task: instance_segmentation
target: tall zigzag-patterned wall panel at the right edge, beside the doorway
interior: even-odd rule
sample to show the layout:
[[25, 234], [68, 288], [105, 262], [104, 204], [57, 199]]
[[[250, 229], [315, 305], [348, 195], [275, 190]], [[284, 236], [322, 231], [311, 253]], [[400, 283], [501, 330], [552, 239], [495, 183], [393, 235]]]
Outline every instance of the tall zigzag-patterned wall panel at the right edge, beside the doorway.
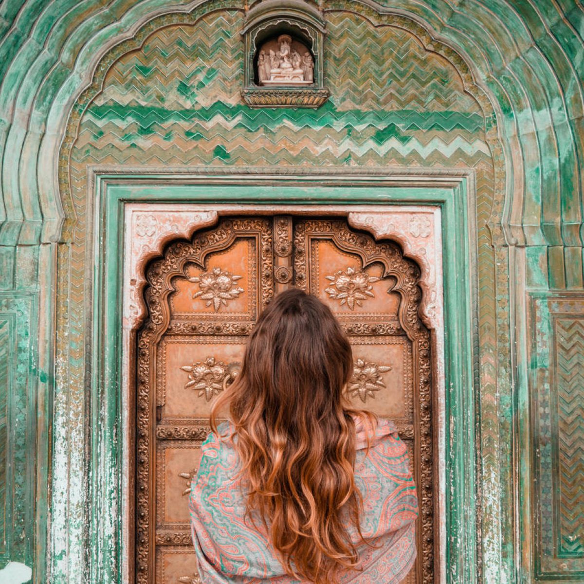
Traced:
[[533, 293], [533, 533], [538, 580], [584, 578], [584, 296]]

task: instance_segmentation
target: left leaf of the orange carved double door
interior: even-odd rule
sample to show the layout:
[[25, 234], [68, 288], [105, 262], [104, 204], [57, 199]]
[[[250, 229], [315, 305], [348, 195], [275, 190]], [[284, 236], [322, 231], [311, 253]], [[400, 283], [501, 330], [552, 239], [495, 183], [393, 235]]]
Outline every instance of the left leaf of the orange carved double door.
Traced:
[[147, 270], [138, 334], [136, 580], [196, 582], [187, 488], [212, 399], [232, 383], [273, 297], [271, 219], [225, 219], [169, 244]]

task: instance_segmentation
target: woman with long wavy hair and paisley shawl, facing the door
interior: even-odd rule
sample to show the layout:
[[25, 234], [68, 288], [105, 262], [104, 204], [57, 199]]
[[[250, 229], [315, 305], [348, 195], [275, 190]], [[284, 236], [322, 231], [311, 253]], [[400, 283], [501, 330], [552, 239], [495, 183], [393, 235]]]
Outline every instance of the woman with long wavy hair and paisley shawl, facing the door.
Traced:
[[397, 584], [409, 572], [406, 448], [392, 423], [349, 406], [352, 374], [349, 341], [318, 298], [287, 290], [262, 313], [193, 479], [204, 584]]

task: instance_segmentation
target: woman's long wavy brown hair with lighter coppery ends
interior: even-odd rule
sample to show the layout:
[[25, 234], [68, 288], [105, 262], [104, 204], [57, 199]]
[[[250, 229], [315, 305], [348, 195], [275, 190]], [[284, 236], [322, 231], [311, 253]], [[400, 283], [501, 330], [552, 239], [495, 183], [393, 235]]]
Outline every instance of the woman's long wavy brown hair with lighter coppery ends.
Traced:
[[317, 584], [359, 565], [347, 521], [365, 541], [354, 481], [355, 419], [373, 431], [373, 414], [352, 409], [349, 340], [318, 298], [292, 289], [258, 319], [235, 382], [214, 404], [232, 422], [246, 516], [267, 529], [286, 572]]

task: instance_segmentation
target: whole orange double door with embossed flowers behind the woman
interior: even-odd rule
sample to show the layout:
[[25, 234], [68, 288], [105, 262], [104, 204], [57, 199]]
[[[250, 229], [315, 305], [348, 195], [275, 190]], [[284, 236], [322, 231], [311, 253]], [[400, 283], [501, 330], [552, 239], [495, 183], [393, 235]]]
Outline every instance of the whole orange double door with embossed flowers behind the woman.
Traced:
[[432, 582], [432, 384], [418, 266], [341, 218], [240, 217], [167, 245], [147, 279], [149, 317], [137, 341], [137, 582], [199, 582], [187, 499], [210, 405], [237, 376], [263, 307], [288, 286], [331, 307], [353, 345], [350, 398], [395, 420], [408, 445], [420, 499], [408, 582]]

